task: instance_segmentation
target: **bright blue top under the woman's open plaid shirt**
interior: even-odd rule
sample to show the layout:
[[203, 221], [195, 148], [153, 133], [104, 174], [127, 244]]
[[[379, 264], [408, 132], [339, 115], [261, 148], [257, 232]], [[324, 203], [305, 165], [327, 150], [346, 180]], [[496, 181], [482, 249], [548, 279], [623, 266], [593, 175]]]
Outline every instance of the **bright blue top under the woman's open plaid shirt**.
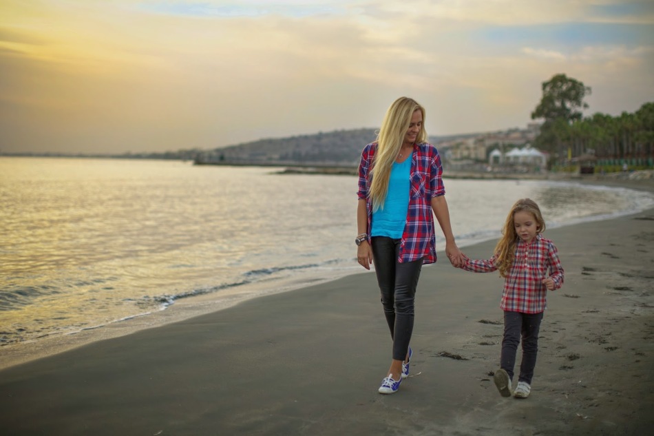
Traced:
[[412, 156], [409, 156], [403, 163], [393, 163], [383, 209], [380, 207], [372, 212], [370, 236], [402, 238], [409, 209], [411, 161]]

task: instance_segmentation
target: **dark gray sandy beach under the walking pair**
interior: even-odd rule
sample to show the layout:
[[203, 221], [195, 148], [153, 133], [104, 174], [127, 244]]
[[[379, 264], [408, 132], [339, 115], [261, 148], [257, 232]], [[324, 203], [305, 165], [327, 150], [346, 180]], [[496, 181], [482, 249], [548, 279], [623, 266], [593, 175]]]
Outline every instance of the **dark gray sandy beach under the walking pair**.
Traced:
[[[394, 395], [377, 393], [391, 343], [371, 272], [4, 368], [1, 433], [649, 434], [654, 209], [545, 235], [566, 277], [549, 294], [528, 399], [492, 382], [501, 279], [438, 262], [421, 274], [412, 375]], [[487, 258], [494, 245], [464, 252]]]

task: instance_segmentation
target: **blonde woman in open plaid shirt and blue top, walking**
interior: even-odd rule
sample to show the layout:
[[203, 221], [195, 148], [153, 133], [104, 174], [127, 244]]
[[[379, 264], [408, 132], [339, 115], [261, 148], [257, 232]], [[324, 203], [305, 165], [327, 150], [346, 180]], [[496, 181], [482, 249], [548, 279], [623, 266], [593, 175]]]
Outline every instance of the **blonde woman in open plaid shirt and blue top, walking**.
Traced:
[[[463, 263], [456, 247], [436, 148], [427, 143], [425, 109], [398, 98], [386, 111], [377, 141], [366, 145], [359, 165], [357, 259], [375, 262], [381, 303], [393, 340], [392, 361], [379, 393], [395, 393], [409, 375], [414, 299], [423, 264], [436, 262], [434, 218], [445, 236], [445, 253]], [[433, 214], [432, 214], [433, 211]]]

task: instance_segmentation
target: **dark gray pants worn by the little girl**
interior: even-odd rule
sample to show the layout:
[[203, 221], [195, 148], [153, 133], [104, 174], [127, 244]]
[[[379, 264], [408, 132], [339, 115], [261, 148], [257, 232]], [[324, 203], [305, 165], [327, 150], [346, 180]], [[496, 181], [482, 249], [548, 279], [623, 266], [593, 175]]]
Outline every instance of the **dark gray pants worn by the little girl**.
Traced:
[[502, 340], [502, 356], [500, 368], [507, 371], [513, 380], [514, 366], [516, 366], [516, 353], [520, 338], [523, 342], [523, 361], [520, 362], [520, 375], [518, 382], [531, 385], [536, 367], [536, 354], [538, 354], [538, 331], [543, 313], [504, 312], [504, 339]]

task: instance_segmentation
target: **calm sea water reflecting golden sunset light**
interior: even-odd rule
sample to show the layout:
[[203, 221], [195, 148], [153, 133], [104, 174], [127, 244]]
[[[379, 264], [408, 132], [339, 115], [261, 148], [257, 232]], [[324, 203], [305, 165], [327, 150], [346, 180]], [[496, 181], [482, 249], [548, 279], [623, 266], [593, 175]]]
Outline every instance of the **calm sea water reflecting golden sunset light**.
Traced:
[[[352, 242], [357, 179], [273, 172], [0, 158], [0, 344], [147, 315], [180, 298], [254, 298], [364, 271]], [[461, 247], [496, 238], [518, 198], [536, 200], [548, 227], [654, 205], [651, 194], [574, 183], [445, 187]]]

